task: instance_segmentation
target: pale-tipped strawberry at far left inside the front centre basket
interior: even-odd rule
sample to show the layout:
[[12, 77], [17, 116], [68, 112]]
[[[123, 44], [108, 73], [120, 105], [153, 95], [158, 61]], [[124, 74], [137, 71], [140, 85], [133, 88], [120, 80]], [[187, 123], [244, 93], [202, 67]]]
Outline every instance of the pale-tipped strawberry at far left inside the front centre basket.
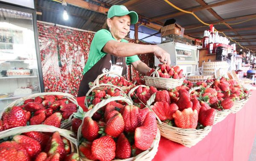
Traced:
[[84, 118], [84, 124], [82, 124], [81, 133], [84, 138], [88, 141], [93, 141], [94, 139], [98, 138], [99, 134], [99, 125], [96, 121], [91, 119], [90, 117]]

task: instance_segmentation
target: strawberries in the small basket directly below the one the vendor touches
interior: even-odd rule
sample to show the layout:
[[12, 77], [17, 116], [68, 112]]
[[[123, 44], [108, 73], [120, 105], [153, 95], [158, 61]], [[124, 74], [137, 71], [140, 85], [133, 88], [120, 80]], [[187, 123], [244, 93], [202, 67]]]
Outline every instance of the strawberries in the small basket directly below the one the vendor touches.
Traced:
[[144, 108], [148, 99], [156, 92], [157, 88], [154, 88], [153, 86], [146, 86], [144, 88], [139, 86], [133, 93], [131, 93], [131, 99], [135, 103], [134, 105]]

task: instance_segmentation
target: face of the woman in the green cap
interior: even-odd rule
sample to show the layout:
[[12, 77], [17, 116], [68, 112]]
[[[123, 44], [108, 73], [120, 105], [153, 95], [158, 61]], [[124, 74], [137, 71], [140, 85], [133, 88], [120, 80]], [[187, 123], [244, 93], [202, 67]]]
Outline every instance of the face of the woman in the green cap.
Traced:
[[130, 31], [131, 18], [129, 15], [114, 16], [112, 19], [108, 19], [107, 22], [108, 27], [111, 28], [111, 34], [118, 41], [125, 38]]

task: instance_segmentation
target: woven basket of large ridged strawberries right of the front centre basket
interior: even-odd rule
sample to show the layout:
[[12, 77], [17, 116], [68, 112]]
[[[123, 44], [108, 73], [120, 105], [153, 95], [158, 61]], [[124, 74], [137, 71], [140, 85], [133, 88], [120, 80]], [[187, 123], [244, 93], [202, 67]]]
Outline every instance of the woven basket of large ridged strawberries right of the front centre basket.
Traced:
[[185, 87], [178, 89], [157, 91], [148, 100], [147, 107], [157, 116], [161, 136], [192, 147], [212, 130], [216, 112], [201, 107], [196, 96], [190, 95]]

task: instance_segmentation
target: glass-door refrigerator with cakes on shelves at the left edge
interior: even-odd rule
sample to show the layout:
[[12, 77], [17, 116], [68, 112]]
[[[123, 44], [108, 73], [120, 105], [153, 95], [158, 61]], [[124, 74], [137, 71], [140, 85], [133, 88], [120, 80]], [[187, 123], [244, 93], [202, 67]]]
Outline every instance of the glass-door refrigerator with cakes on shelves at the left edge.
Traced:
[[0, 111], [16, 99], [44, 92], [34, 2], [28, 7], [6, 1], [0, 0]]

